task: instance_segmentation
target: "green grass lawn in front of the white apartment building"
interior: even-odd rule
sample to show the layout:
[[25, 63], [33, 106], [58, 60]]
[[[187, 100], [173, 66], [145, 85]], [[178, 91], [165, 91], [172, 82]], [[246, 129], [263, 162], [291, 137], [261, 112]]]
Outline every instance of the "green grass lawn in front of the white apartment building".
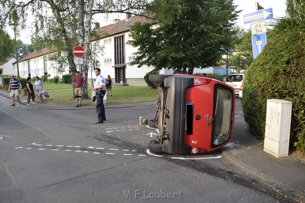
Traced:
[[[45, 89], [45, 88], [44, 88]], [[44, 100], [47, 103], [55, 104], [76, 104], [73, 98], [73, 89], [52, 90], [48, 91], [49, 98]], [[91, 89], [88, 88], [88, 96], [91, 97]], [[53, 99], [53, 100], [52, 100]], [[60, 100], [55, 100], [60, 99]], [[64, 100], [63, 100], [64, 99]], [[71, 100], [68, 100], [71, 99]], [[113, 86], [112, 96], [107, 97], [107, 104], [121, 104], [121, 103], [140, 103], [157, 100], [157, 90], [149, 87], [139, 86]], [[91, 105], [91, 99], [83, 99], [83, 105]]]

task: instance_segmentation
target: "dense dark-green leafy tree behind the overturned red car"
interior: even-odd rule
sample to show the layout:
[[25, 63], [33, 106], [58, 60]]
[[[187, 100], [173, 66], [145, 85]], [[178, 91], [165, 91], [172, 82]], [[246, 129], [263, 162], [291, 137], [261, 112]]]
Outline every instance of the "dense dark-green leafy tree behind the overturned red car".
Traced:
[[172, 68], [174, 72], [217, 66], [221, 54], [231, 50], [236, 41], [232, 26], [240, 11], [233, 0], [174, 2], [173, 15], [168, 15], [167, 9], [156, 10], [157, 16], [166, 16], [166, 21], [156, 21], [156, 29], [149, 23], [131, 27], [128, 44], [138, 48], [134, 53], [138, 57], [130, 64], [156, 70]]

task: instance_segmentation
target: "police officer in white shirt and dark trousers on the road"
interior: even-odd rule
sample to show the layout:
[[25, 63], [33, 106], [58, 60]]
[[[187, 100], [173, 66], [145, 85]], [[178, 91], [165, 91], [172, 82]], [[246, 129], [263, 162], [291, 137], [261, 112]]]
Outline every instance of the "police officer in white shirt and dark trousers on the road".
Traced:
[[[96, 78], [95, 78], [94, 88], [92, 88], [92, 91], [98, 90], [98, 91], [103, 91], [105, 93], [106, 92], [105, 91], [105, 82], [106, 81], [105, 81], [105, 78], [101, 75], [101, 69], [95, 68], [94, 73], [96, 75]], [[96, 122], [94, 122], [95, 124], [104, 123], [104, 121], [106, 121], [103, 97], [104, 97], [104, 95], [102, 96], [102, 95], [96, 94], [95, 109], [96, 109], [98, 120]]]

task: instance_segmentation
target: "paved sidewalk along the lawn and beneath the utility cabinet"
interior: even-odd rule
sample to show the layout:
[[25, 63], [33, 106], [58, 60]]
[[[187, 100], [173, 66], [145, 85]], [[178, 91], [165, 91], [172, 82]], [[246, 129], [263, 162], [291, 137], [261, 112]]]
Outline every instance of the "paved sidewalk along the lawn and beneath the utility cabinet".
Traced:
[[[0, 95], [10, 99], [9, 93], [1, 91]], [[27, 97], [20, 96], [23, 105]], [[155, 102], [133, 104], [105, 105], [105, 109], [152, 106]], [[236, 104], [240, 105], [240, 104]], [[95, 106], [56, 105], [38, 103], [27, 107], [41, 109], [85, 110]], [[240, 108], [239, 108], [240, 109]], [[257, 140], [247, 129], [242, 110], [235, 111], [235, 128], [232, 141], [221, 148], [222, 155], [239, 168], [254, 175], [277, 190], [279, 196], [293, 195], [296, 202], [305, 202], [305, 157], [289, 153], [289, 156], [276, 158], [264, 152], [264, 143]]]

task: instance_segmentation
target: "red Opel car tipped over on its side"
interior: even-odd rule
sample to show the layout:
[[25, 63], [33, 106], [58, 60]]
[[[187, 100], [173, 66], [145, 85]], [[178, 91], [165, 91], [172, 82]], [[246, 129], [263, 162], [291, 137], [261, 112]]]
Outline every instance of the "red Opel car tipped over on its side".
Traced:
[[234, 89], [207, 76], [150, 75], [155, 82], [157, 113], [151, 121], [159, 134], [148, 144], [156, 153], [199, 154], [214, 151], [232, 139]]

